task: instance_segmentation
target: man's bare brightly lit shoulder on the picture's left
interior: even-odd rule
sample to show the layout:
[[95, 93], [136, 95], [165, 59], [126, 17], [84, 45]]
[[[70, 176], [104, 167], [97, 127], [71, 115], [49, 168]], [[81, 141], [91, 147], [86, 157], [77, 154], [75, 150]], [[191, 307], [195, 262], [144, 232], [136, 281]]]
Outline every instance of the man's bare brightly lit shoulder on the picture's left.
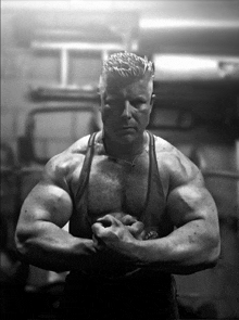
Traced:
[[75, 174], [79, 175], [88, 149], [89, 137], [80, 138], [70, 148], [53, 156], [45, 166], [42, 179], [61, 183], [62, 180], [68, 182]]

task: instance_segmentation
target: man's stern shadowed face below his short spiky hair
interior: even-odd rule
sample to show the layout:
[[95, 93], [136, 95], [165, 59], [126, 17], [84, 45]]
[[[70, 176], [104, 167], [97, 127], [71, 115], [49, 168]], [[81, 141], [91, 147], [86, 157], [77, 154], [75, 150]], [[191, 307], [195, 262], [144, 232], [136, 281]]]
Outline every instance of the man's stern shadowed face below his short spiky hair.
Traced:
[[149, 78], [114, 85], [108, 81], [101, 94], [104, 132], [120, 143], [142, 135], [150, 120], [153, 81]]

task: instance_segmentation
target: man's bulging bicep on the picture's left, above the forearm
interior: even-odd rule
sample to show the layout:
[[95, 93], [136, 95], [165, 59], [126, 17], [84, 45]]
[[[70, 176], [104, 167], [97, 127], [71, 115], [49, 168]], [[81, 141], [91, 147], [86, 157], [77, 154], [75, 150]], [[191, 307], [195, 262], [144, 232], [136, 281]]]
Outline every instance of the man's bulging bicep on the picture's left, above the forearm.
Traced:
[[70, 194], [53, 183], [40, 181], [23, 203], [20, 223], [27, 226], [36, 221], [49, 221], [62, 228], [71, 214]]

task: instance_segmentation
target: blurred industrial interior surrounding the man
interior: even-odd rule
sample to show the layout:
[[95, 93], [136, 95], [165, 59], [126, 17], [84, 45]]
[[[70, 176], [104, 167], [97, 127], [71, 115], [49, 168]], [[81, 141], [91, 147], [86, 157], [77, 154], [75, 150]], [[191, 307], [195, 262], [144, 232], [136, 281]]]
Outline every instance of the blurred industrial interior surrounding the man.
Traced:
[[219, 261], [175, 276], [180, 319], [239, 319], [236, 0], [1, 1], [1, 319], [58, 319], [67, 272], [18, 260], [15, 226], [45, 164], [101, 129], [101, 63], [125, 50], [154, 62], [148, 130], [197, 164], [218, 209]]

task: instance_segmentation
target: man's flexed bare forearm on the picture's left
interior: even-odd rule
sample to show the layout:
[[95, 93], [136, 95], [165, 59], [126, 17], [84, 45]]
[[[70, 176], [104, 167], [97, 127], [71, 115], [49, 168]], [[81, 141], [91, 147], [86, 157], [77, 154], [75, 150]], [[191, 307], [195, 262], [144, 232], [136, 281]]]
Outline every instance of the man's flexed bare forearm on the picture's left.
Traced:
[[47, 270], [89, 268], [96, 254], [92, 240], [75, 238], [48, 221], [37, 222], [30, 230], [16, 230], [15, 240], [25, 261]]

